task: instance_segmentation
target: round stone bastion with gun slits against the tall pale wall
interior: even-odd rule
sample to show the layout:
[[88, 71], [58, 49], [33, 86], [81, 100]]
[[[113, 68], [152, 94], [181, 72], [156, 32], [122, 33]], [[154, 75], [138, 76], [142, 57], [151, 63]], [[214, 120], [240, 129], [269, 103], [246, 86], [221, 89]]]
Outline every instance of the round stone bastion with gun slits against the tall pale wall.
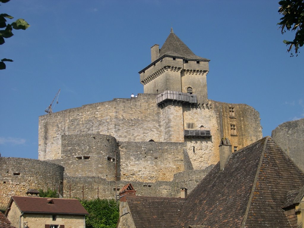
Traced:
[[[63, 135], [61, 159], [69, 176], [96, 176], [115, 180], [116, 139], [102, 134]], [[118, 156], [116, 158], [116, 161]]]

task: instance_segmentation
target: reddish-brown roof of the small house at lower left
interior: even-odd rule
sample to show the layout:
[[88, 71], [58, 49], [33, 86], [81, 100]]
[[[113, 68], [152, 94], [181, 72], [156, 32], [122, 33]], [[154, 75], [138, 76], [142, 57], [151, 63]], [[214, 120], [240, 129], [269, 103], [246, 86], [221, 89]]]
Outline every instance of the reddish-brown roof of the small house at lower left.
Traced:
[[[12, 196], [8, 208], [13, 201], [21, 212], [88, 215], [78, 199]], [[9, 209], [6, 210], [6, 215], [8, 211]]]

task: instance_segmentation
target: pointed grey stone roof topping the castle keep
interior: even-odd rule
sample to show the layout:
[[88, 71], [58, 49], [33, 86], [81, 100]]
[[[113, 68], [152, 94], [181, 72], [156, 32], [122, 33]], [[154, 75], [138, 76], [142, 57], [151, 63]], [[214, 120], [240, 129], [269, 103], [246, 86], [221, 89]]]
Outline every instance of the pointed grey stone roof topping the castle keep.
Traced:
[[208, 60], [206, 58], [199, 57], [195, 55], [192, 50], [190, 50], [187, 45], [183, 41], [181, 41], [178, 36], [173, 33], [173, 29], [171, 29], [171, 33], [169, 34], [167, 40], [164, 45], [161, 47], [159, 51], [158, 58], [163, 57], [164, 55], [170, 55], [174, 57], [182, 57], [185, 59], [192, 60]]

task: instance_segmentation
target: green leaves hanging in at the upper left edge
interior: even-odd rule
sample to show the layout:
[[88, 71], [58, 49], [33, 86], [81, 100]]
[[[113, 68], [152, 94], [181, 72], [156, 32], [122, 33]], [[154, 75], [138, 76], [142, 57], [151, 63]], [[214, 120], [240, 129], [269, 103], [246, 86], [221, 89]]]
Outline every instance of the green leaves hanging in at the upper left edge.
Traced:
[[[1, 3], [9, 2], [9, 0], [0, 0]], [[18, 19], [15, 22], [12, 22], [12, 24], [6, 24], [6, 18], [7, 19], [13, 19], [12, 16], [2, 13], [0, 14], [0, 28], [5, 28], [4, 30], [0, 30], [0, 45], [5, 43], [5, 39], [12, 37], [14, 34], [12, 33], [13, 29], [27, 29], [29, 27], [29, 24], [24, 19]], [[2, 59], [0, 62], [0, 70], [4, 70], [6, 68], [5, 61], [12, 62], [11, 59]]]

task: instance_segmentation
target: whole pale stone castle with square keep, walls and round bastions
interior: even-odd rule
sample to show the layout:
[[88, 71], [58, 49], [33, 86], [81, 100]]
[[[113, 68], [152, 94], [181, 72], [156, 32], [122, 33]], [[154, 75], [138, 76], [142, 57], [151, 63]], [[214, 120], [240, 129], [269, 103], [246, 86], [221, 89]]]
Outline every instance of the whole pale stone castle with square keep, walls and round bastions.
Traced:
[[[191, 192], [219, 161], [222, 138], [236, 151], [262, 137], [253, 107], [208, 99], [208, 72], [209, 60], [171, 29], [161, 49], [151, 47], [151, 63], [139, 72], [143, 94], [40, 116], [37, 163], [54, 168], [43, 169], [50, 177], [39, 186], [84, 199], [115, 198], [130, 181], [137, 195], [177, 196], [181, 186]], [[19, 170], [27, 173], [24, 181], [39, 172], [29, 174], [31, 160], [17, 165], [0, 157], [1, 197], [12, 195], [7, 183], [21, 183]]]

